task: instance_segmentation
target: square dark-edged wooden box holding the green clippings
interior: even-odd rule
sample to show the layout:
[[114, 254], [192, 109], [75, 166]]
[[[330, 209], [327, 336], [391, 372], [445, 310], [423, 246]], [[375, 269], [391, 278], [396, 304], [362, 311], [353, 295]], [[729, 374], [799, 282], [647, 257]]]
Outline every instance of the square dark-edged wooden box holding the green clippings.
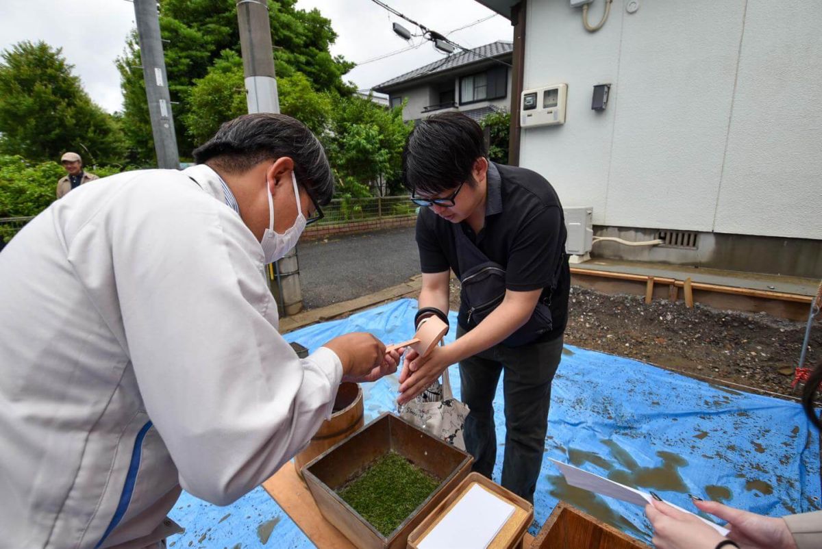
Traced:
[[[381, 455], [394, 450], [423, 468], [440, 485], [390, 536], [383, 536], [336, 490]], [[302, 475], [324, 517], [362, 549], [399, 549], [409, 534], [466, 477], [473, 458], [393, 413], [383, 413], [344, 441], [319, 455], [302, 469]]]

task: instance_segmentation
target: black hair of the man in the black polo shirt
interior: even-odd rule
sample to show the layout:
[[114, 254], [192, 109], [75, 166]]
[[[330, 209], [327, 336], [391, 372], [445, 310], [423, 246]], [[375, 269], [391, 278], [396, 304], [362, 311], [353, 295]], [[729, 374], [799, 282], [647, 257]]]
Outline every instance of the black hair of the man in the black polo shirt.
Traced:
[[440, 113], [417, 122], [403, 150], [403, 184], [423, 196], [468, 182], [473, 164], [487, 157], [483, 128], [460, 113]]

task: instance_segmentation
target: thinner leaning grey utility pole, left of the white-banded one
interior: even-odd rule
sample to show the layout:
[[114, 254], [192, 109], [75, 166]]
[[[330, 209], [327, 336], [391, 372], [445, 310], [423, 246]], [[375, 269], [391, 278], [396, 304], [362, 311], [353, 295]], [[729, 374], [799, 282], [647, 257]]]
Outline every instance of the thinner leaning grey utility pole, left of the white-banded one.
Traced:
[[165, 73], [163, 42], [159, 34], [159, 4], [156, 0], [134, 0], [137, 36], [140, 39], [140, 59], [145, 81], [145, 97], [149, 103], [151, 134], [154, 136], [157, 166], [180, 168], [177, 136], [171, 116], [169, 81]]

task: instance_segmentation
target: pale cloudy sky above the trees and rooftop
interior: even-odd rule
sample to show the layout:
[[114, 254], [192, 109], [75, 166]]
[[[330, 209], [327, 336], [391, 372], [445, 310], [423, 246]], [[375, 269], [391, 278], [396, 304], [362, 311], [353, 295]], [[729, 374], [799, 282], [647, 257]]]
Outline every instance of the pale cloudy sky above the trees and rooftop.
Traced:
[[[467, 48], [511, 39], [510, 22], [493, 16], [493, 12], [473, 0], [386, 0], [386, 3], [442, 34], [485, 20], [448, 35]], [[339, 35], [331, 53], [362, 63], [345, 76], [361, 89], [443, 57], [430, 42], [414, 38], [407, 43], [396, 36], [391, 31], [394, 21], [415, 33], [418, 30], [371, 0], [298, 0], [297, 6], [316, 7], [330, 18]], [[133, 27], [134, 6], [127, 0], [2, 0], [0, 49], [21, 40], [41, 39], [62, 48], [91, 98], [113, 112], [122, 106], [114, 58], [122, 53], [126, 36]], [[417, 47], [367, 62], [409, 45]]]

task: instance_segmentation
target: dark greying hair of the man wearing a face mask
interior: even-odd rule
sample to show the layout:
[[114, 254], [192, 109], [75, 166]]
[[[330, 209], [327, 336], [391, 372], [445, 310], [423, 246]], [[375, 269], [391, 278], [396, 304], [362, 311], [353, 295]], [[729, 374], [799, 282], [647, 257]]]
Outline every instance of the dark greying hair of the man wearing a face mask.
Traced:
[[228, 173], [244, 173], [269, 159], [288, 156], [297, 182], [326, 205], [334, 195], [334, 174], [320, 140], [305, 124], [285, 114], [244, 114], [225, 122], [205, 144], [194, 150], [197, 164]]

